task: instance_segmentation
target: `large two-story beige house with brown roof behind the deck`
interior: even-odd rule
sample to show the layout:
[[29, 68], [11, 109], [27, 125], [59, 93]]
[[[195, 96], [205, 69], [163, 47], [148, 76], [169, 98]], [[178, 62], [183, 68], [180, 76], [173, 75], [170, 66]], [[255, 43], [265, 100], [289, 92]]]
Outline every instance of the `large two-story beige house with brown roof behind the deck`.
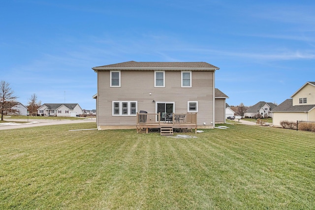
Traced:
[[93, 98], [99, 130], [136, 128], [140, 111], [196, 113], [198, 128], [214, 128], [215, 71], [219, 68], [212, 64], [128, 61], [92, 69], [97, 73]]

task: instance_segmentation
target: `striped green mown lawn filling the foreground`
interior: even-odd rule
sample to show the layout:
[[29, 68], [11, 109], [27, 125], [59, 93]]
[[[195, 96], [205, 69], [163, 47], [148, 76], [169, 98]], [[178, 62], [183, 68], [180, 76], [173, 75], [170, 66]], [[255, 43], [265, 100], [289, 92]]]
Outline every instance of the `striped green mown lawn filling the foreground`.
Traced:
[[185, 139], [2, 130], [0, 209], [314, 209], [315, 133], [227, 126]]

